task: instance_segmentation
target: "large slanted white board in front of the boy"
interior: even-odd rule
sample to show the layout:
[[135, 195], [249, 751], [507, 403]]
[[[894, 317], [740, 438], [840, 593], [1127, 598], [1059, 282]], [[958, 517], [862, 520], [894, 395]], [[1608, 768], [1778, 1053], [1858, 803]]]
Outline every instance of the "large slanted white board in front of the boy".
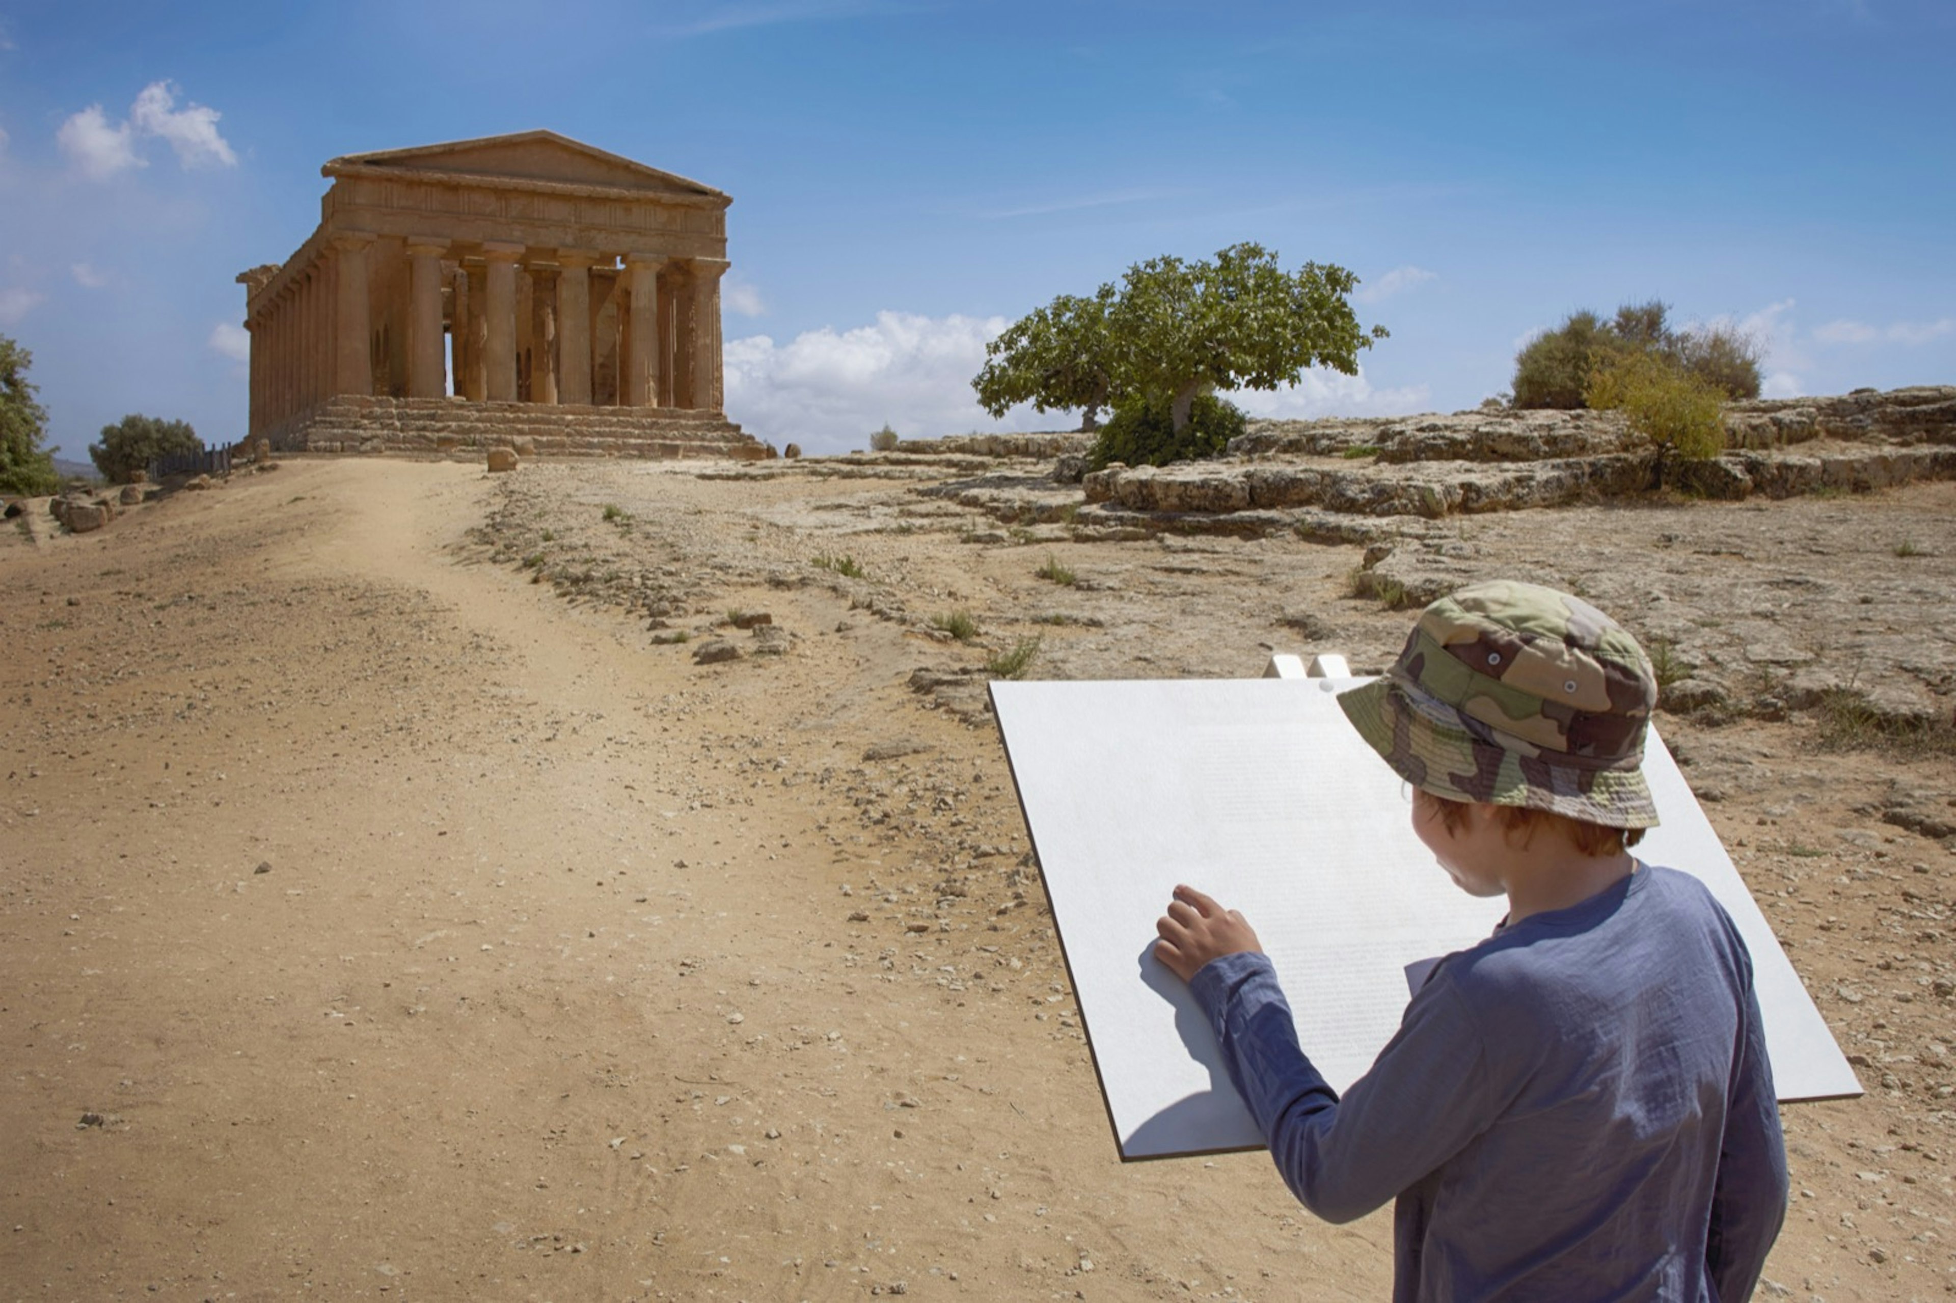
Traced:
[[[1152, 951], [1178, 882], [1238, 908], [1299, 1041], [1346, 1090], [1399, 1029], [1406, 965], [1465, 949], [1502, 900], [1412, 835], [1391, 769], [1334, 695], [1363, 679], [992, 683], [1027, 830], [1123, 1158], [1264, 1145], [1187, 988]], [[1753, 953], [1780, 1100], [1860, 1082], [1655, 730], [1637, 855], [1694, 873]]]

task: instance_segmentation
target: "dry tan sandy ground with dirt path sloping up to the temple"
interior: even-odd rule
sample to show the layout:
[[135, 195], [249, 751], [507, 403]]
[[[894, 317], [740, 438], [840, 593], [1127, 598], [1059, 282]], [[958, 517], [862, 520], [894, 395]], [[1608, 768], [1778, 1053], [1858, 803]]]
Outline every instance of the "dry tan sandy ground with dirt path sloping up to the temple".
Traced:
[[[849, 532], [906, 493], [293, 462], [0, 538], [0, 1299], [1385, 1297], [1389, 1211], [1115, 1160], [996, 730], [906, 681], [974, 659], [931, 610], [1080, 677], [1256, 673], [1279, 608], [1363, 663], [1406, 616], [1352, 548], [1058, 544], [1060, 591]], [[1942, 558], [1952, 509], [1786, 505]], [[694, 665], [489, 560], [526, 530], [790, 650]], [[1870, 1086], [1786, 1109], [1762, 1293], [1942, 1297], [1956, 855], [1868, 812], [1948, 759], [1665, 732]]]

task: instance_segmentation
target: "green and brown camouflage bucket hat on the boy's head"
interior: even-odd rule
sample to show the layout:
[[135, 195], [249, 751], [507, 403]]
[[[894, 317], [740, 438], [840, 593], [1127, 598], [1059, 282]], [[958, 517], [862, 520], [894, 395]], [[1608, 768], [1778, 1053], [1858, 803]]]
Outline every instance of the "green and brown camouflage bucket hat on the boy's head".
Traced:
[[1420, 612], [1399, 661], [1338, 695], [1399, 777], [1436, 796], [1651, 828], [1643, 734], [1657, 675], [1578, 597], [1477, 583]]

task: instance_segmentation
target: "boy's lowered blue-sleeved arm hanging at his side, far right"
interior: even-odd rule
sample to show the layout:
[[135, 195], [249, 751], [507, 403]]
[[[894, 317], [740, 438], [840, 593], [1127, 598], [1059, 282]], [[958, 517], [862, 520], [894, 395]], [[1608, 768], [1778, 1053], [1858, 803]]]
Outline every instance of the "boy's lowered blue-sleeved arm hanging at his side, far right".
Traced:
[[1717, 1297], [1727, 1303], [1753, 1297], [1766, 1252], [1786, 1219], [1788, 1191], [1780, 1105], [1774, 1100], [1766, 1033], [1751, 980], [1745, 986], [1743, 1017], [1745, 1037], [1725, 1098], [1725, 1139], [1719, 1145], [1712, 1227], [1706, 1236], [1706, 1272]]

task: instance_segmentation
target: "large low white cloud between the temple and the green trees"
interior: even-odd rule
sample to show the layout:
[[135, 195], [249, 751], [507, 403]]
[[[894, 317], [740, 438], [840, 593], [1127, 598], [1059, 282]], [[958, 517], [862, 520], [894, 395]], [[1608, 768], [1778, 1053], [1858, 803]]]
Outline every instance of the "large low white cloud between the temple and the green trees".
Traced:
[[1072, 425], [1064, 413], [1015, 409], [994, 421], [972, 376], [1003, 317], [876, 313], [853, 331], [804, 331], [786, 344], [767, 335], [726, 342], [728, 413], [757, 438], [808, 452], [867, 448], [884, 423], [908, 438], [964, 430], [1041, 430]]

